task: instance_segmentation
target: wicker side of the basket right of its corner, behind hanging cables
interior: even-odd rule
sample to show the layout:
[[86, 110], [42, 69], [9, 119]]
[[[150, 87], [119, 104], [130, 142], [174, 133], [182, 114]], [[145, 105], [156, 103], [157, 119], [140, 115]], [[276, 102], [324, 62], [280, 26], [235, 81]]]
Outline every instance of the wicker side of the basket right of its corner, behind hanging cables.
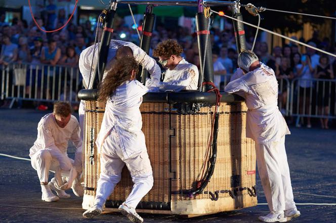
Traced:
[[[195, 188], [211, 132], [212, 111], [214, 107], [203, 107], [194, 115], [172, 116], [171, 128], [176, 129], [176, 137], [172, 138], [172, 170], [178, 179], [172, 181], [172, 191]], [[215, 191], [219, 197], [229, 197], [225, 190], [240, 189], [237, 195], [247, 194], [247, 187], [255, 186], [256, 156], [253, 140], [245, 137], [246, 111], [245, 103], [221, 103], [215, 171], [204, 193], [194, 199], [211, 198], [207, 192]], [[190, 199], [183, 194], [172, 196], [173, 200]]]

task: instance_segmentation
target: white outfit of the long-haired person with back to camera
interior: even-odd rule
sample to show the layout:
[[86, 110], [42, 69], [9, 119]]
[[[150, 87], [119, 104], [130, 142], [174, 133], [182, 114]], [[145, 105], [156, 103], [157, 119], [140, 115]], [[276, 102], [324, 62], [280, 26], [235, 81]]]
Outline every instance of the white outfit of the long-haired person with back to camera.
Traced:
[[120, 85], [107, 100], [98, 139], [101, 174], [98, 180], [95, 205], [103, 206], [121, 179], [124, 164], [134, 183], [125, 204], [136, 208], [153, 186], [152, 167], [147, 154], [145, 136], [141, 131], [140, 105], [148, 91], [137, 80]]

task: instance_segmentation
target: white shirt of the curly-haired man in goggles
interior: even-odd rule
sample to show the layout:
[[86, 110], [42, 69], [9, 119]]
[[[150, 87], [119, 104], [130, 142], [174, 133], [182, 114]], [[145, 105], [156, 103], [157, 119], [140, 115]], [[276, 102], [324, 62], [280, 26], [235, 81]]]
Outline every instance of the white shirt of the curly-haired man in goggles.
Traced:
[[198, 69], [182, 59], [174, 70], [167, 69], [160, 90], [197, 90]]

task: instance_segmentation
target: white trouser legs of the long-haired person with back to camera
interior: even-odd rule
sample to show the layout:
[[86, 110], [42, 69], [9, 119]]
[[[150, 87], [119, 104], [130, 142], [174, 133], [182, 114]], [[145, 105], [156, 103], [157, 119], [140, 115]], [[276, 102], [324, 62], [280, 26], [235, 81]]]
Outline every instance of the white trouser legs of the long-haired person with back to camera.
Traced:
[[120, 148], [105, 140], [100, 154], [100, 177], [98, 180], [95, 205], [103, 206], [121, 179], [121, 171], [126, 164], [134, 183], [132, 191], [125, 201], [129, 207], [136, 208], [141, 199], [153, 187], [152, 166], [146, 150], [124, 158]]

